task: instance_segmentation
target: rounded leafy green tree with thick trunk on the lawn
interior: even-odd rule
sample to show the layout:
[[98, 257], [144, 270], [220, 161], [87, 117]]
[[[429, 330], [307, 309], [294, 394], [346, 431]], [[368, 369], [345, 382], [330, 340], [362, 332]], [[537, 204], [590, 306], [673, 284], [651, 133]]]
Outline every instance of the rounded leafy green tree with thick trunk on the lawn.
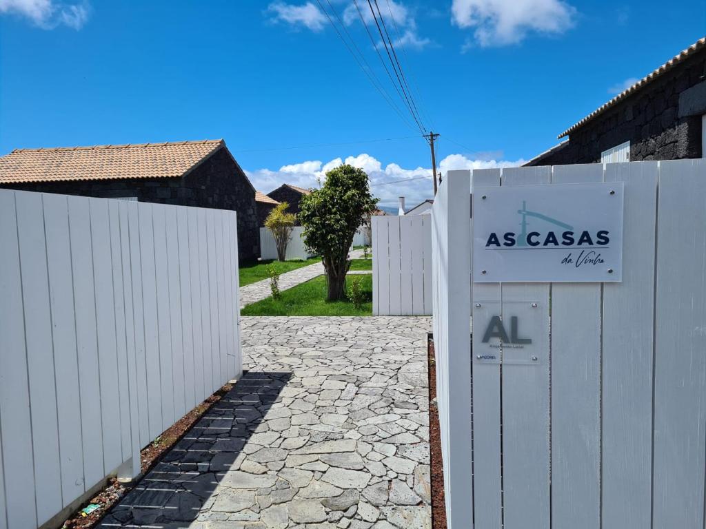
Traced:
[[301, 197], [299, 221], [304, 226], [304, 243], [321, 255], [329, 301], [346, 298], [348, 250], [356, 230], [377, 202], [370, 194], [365, 171], [349, 165], [328, 171], [321, 189]]

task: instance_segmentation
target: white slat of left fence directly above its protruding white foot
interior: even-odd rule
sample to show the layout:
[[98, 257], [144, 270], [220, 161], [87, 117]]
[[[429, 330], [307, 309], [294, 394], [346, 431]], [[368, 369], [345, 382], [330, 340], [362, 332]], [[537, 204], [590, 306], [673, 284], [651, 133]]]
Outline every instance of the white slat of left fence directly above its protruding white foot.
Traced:
[[137, 353], [135, 340], [135, 309], [133, 303], [133, 273], [131, 269], [131, 248], [130, 248], [130, 224], [129, 224], [129, 202], [136, 201], [120, 200], [118, 202], [118, 221], [120, 232], [120, 262], [123, 279], [123, 300], [125, 303], [125, 347], [126, 347], [126, 370], [127, 382], [123, 391], [128, 394], [128, 419], [130, 423], [130, 457], [133, 457], [133, 474], [140, 472], [140, 410], [138, 405], [138, 375], [137, 375]]

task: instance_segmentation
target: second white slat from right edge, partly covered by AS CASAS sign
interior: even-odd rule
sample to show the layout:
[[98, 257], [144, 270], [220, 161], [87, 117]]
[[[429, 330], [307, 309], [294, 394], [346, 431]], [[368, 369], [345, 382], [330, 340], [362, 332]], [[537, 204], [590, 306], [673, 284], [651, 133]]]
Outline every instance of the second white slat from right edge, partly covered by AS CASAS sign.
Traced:
[[602, 523], [650, 527], [657, 162], [609, 164], [625, 182], [623, 281], [603, 288]]

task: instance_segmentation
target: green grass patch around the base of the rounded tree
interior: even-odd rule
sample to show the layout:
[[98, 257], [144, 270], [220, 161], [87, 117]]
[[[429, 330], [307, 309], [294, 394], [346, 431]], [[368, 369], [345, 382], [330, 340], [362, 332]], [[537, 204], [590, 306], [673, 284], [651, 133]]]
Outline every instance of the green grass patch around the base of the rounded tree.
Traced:
[[[347, 287], [353, 276], [348, 276]], [[373, 276], [358, 275], [362, 280], [364, 303], [357, 309], [349, 300], [326, 301], [326, 277], [318, 276], [306, 283], [282, 291], [279, 300], [267, 298], [246, 305], [243, 316], [371, 316], [373, 314]]]

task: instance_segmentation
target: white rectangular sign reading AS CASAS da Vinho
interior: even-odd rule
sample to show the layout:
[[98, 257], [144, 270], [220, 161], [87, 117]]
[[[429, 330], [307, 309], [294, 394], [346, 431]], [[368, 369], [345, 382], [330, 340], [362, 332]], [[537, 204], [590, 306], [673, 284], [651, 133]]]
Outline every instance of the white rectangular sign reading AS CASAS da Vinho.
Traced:
[[623, 183], [473, 189], [473, 281], [621, 281]]

